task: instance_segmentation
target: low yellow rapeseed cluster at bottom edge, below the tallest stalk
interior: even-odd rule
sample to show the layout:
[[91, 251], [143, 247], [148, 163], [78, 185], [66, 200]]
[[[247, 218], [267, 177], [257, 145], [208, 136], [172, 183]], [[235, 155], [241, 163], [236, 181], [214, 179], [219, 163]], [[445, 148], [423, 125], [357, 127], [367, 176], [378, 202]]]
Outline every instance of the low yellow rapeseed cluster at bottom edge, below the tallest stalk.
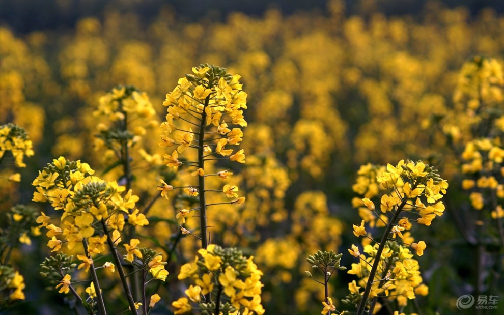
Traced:
[[[194, 261], [180, 268], [179, 280], [189, 278], [186, 297], [172, 303], [175, 314], [191, 311], [193, 303], [202, 314], [264, 314], [261, 304], [263, 273], [254, 263], [254, 256], [245, 257], [236, 248], [209, 244], [198, 250]], [[211, 297], [212, 302], [208, 300]]]

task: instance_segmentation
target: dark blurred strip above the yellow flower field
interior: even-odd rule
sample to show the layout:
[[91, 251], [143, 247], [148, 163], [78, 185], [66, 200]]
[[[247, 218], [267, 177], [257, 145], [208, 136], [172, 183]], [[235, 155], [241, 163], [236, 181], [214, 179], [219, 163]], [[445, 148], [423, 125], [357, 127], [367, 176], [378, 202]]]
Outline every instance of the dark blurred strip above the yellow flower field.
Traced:
[[[85, 16], [100, 17], [106, 7], [121, 8], [123, 13], [134, 12], [149, 24], [163, 7], [169, 7], [182, 20], [197, 21], [202, 17], [223, 20], [230, 12], [241, 11], [252, 16], [262, 16], [265, 10], [275, 7], [284, 14], [300, 10], [325, 10], [328, 0], [0, 0], [0, 25], [9, 25], [16, 33], [38, 30], [72, 28]], [[346, 14], [369, 10], [385, 15], [416, 15], [427, 0], [345, 0]], [[482, 8], [504, 12], [501, 0], [443, 0], [447, 7], [465, 6], [471, 15]]]

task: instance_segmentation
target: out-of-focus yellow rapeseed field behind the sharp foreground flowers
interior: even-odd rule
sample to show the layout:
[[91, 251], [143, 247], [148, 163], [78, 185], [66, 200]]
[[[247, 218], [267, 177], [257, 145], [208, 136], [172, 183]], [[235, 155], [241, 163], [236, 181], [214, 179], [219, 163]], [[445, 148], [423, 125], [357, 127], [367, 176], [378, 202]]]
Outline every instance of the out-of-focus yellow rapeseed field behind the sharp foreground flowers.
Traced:
[[[327, 312], [332, 312], [331, 305], [339, 308], [336, 294], [341, 292], [338, 290], [341, 281], [337, 282], [340, 278], [333, 277], [333, 281], [328, 283], [334, 295], [329, 296], [332, 301], [326, 302], [327, 296], [319, 290], [320, 285], [302, 277], [306, 268], [301, 262], [303, 257], [318, 249], [329, 251], [341, 244], [340, 235], [345, 227], [342, 222], [348, 220], [345, 217], [348, 205], [340, 200], [348, 193], [349, 173], [346, 170], [353, 169], [354, 161], [386, 163], [404, 156], [422, 158], [437, 165], [443, 178], [458, 181], [455, 184], [450, 182], [451, 189], [458, 186], [467, 188], [467, 201], [458, 202], [453, 198], [449, 203], [456, 210], [453, 214], [459, 216], [459, 220], [438, 220], [435, 215], [432, 224], [439, 224], [439, 228], [432, 238], [438, 233], [452, 236], [451, 233], [456, 233], [451, 230], [452, 225], [461, 222], [458, 226], [460, 234], [470, 248], [478, 248], [482, 264], [478, 276], [458, 280], [467, 284], [465, 288], [491, 288], [491, 281], [498, 280], [485, 277], [486, 271], [490, 270], [488, 274], [491, 275], [501, 270], [501, 260], [496, 259], [499, 251], [493, 249], [501, 248], [502, 243], [498, 225], [502, 213], [502, 199], [498, 197], [502, 176], [499, 170], [501, 164], [494, 162], [490, 167], [490, 150], [486, 150], [486, 142], [490, 141], [492, 148], [502, 148], [504, 120], [499, 114], [502, 104], [502, 93], [499, 92], [502, 87], [502, 17], [491, 9], [470, 14], [463, 7], [449, 9], [440, 3], [428, 2], [418, 19], [410, 19], [384, 15], [374, 10], [374, 5], [373, 1], [367, 2], [359, 6], [359, 15], [348, 17], [345, 11], [352, 8], [346, 9], [344, 2], [334, 0], [327, 3], [324, 13], [285, 15], [277, 9], [269, 9], [260, 17], [232, 13], [225, 22], [201, 20], [191, 23], [183, 22], [171, 9], [163, 9], [148, 25], [138, 18], [136, 12], [122, 14], [120, 7], [112, 6], [97, 18], [86, 17], [76, 21], [75, 30], [61, 37], [59, 32], [22, 34], [1, 27], [0, 103], [3, 110], [0, 110], [0, 124], [12, 119], [29, 132], [34, 146], [43, 140], [40, 148], [50, 148], [51, 151], [41, 152], [41, 156], [63, 155], [70, 160], [85, 156], [106, 183], [117, 180], [118, 185], [126, 186], [122, 194], [132, 188], [135, 195], [141, 197], [135, 205], [140, 211], [135, 214], [136, 209], [133, 208], [128, 209], [128, 214], [124, 212], [125, 227], [120, 231], [120, 253], [133, 259], [130, 266], [136, 264], [127, 273], [139, 268], [138, 252], [142, 253], [143, 236], [158, 241], [156, 249], [164, 250], [163, 253], [168, 256], [166, 261], [174, 256], [193, 258], [195, 249], [200, 247], [194, 244], [198, 239], [182, 233], [194, 236], [201, 233], [199, 223], [193, 219], [198, 215], [198, 209], [193, 209], [198, 207], [202, 194], [195, 182], [201, 176], [205, 177], [207, 187], [218, 190], [206, 193], [207, 204], [238, 199], [228, 199], [228, 195], [233, 193], [237, 193], [238, 197], [246, 195], [247, 202], [238, 207], [231, 203], [210, 206], [208, 231], [212, 233], [212, 243], [257, 249], [257, 264], [267, 275], [262, 278], [265, 284], [262, 304], [268, 312], [314, 313], [320, 308], [321, 301], [327, 304], [323, 306]], [[58, 37], [59, 43], [57, 51], [51, 44], [55, 37]], [[370, 50], [374, 53], [370, 54]], [[473, 58], [462, 66], [459, 73], [467, 56], [474, 53], [495, 58]], [[153, 123], [157, 117], [140, 117], [130, 112], [124, 128], [122, 120], [113, 118], [116, 120], [112, 122], [109, 114], [93, 115], [100, 109], [90, 104], [96, 104], [103, 95], [106, 95], [103, 98], [105, 107], [109, 108], [114, 108], [114, 104], [122, 108], [122, 99], [134, 98], [144, 102], [144, 97], [133, 97], [133, 92], [145, 94], [136, 89], [128, 90], [129, 85], [107, 91], [118, 83], [135, 84], [149, 94], [153, 104], [161, 104], [164, 97], [160, 99], [159, 95], [165, 94], [166, 82], [176, 82], [178, 73], [185, 73], [184, 69], [190, 69], [201, 60], [226, 64], [230, 72], [240, 73], [246, 83], [247, 100], [254, 104], [248, 105], [245, 114], [248, 126], [243, 130], [240, 148], [244, 149], [247, 157], [246, 164], [239, 165], [242, 168], [239, 174], [233, 163], [228, 164], [225, 159], [207, 161], [205, 168], [201, 169], [181, 165], [175, 174], [173, 167], [162, 165], [163, 154], [171, 151], [163, 152], [166, 148], [157, 146], [159, 134], [164, 135], [159, 123]], [[120, 95], [122, 87], [125, 88], [124, 95], [114, 99]], [[131, 107], [139, 111], [142, 108]], [[128, 110], [131, 107], [127, 106]], [[188, 114], [184, 113], [182, 118], [197, 123]], [[189, 128], [197, 131], [197, 127], [181, 119], [175, 119], [174, 125], [184, 132]], [[124, 145], [119, 149], [116, 142], [111, 146], [113, 149], [108, 149], [105, 144], [102, 131], [110, 134], [109, 130], [117, 130], [117, 127], [121, 127], [122, 135], [127, 135], [125, 138], [128, 140], [123, 141], [127, 154]], [[207, 127], [212, 130], [217, 128], [214, 125]], [[183, 131], [176, 130], [169, 137], [177, 140], [178, 133]], [[96, 134], [102, 138], [95, 142], [93, 136]], [[197, 139], [198, 136], [194, 135], [192, 145]], [[180, 139], [180, 143], [189, 140]], [[97, 150], [90, 152], [88, 149], [93, 143], [96, 143]], [[470, 148], [472, 145], [469, 143], [474, 147]], [[476, 151], [480, 153], [482, 169], [479, 169], [480, 158], [465, 160], [461, 157], [467, 146], [471, 155], [475, 155]], [[221, 151], [234, 148], [228, 143]], [[452, 152], [446, 148], [455, 150]], [[197, 150], [193, 149], [187, 147], [184, 152], [177, 152], [179, 161], [196, 161]], [[499, 152], [496, 149], [493, 151]], [[229, 158], [219, 154], [215, 156]], [[4, 159], [4, 162], [9, 161]], [[126, 175], [125, 162], [130, 163], [130, 175]], [[34, 166], [34, 163], [27, 164]], [[468, 165], [462, 166], [465, 164]], [[160, 168], [160, 165], [163, 167]], [[469, 166], [479, 170], [461, 174], [461, 170], [469, 169]], [[228, 168], [232, 168], [233, 172]], [[375, 231], [386, 227], [394, 211], [381, 212], [383, 187], [376, 178], [386, 170], [385, 166], [376, 166], [376, 174], [363, 174], [370, 184], [367, 185], [364, 178], [359, 183], [361, 187], [369, 187], [369, 191], [363, 192], [365, 194], [358, 193], [373, 201], [376, 213], [369, 210], [374, 207], [370, 202], [361, 198], [353, 201], [361, 219], [365, 220], [364, 223], [353, 222], [358, 226], [356, 233], [370, 242], [365, 245], [373, 243], [363, 234], [374, 235]], [[220, 171], [223, 171], [221, 177], [206, 176]], [[4, 179], [12, 175], [15, 174], [9, 172], [0, 177]], [[222, 182], [225, 178], [226, 181]], [[19, 193], [13, 189], [21, 185], [12, 182], [17, 179], [18, 176], [13, 176], [11, 181], [0, 180], [0, 203], [4, 213], [20, 196], [27, 194], [26, 191]], [[160, 197], [155, 198], [153, 185], [159, 180], [166, 184], [159, 182]], [[225, 184], [229, 185], [226, 193]], [[128, 188], [128, 185], [131, 187]], [[233, 186], [240, 190], [236, 192]], [[176, 187], [184, 188], [176, 190]], [[376, 195], [373, 191], [380, 192]], [[171, 202], [160, 202], [165, 197]], [[424, 196], [420, 198], [424, 205], [432, 205], [426, 202]], [[394, 203], [394, 196], [391, 196], [383, 201], [383, 207]], [[148, 213], [146, 209], [149, 209]], [[54, 216], [43, 211], [50, 217]], [[56, 213], [61, 214], [62, 211]], [[398, 218], [401, 224], [398, 222], [398, 227], [391, 229], [391, 239], [395, 236], [396, 241], [411, 244], [409, 250], [413, 254], [417, 249], [422, 252], [424, 244], [422, 241], [415, 243], [410, 233], [416, 228], [415, 220], [421, 218], [418, 210], [402, 213], [408, 213], [408, 220]], [[138, 235], [133, 236], [133, 227], [127, 221], [131, 215], [132, 222], [142, 222], [139, 214], [148, 215], [149, 225], [137, 224]], [[424, 213], [424, 216], [425, 222], [428, 222], [428, 214]], [[49, 222], [59, 225], [57, 221], [52, 219]], [[100, 225], [96, 222], [91, 225], [84, 222], [81, 227], [88, 233], [94, 228], [95, 234], [101, 235], [97, 232]], [[412, 225], [411, 230], [408, 230], [409, 224]], [[351, 224], [349, 226], [352, 231]], [[23, 242], [28, 242], [28, 239], [33, 241], [34, 234], [30, 230], [26, 232], [28, 238], [21, 238]], [[433, 240], [429, 236], [424, 237], [423, 240], [432, 249]], [[54, 235], [54, 238], [49, 241], [52, 246], [49, 250], [73, 254], [75, 270], [84, 264], [78, 272], [69, 274], [70, 285], [65, 287], [63, 284], [58, 290], [63, 287], [71, 293], [71, 288], [75, 287], [80, 293], [80, 285], [75, 282], [87, 275], [83, 270], [89, 266], [86, 265], [88, 257], [83, 258], [86, 255], [78, 242], [72, 250], [68, 250], [68, 242], [61, 235]], [[415, 238], [422, 237], [415, 235]], [[18, 242], [20, 236], [14, 239]], [[136, 244], [131, 239], [141, 243]], [[107, 252], [106, 242], [101, 243], [101, 239], [92, 241], [89, 246], [93, 250]], [[175, 243], [172, 244], [172, 241]], [[122, 244], [128, 245], [128, 250]], [[62, 246], [58, 248], [58, 245]], [[368, 256], [363, 252], [364, 244], [355, 245]], [[12, 252], [13, 262], [21, 260], [19, 253], [18, 250]], [[429, 298], [425, 307], [437, 304], [442, 308], [441, 312], [456, 311], [454, 303], [445, 303], [450, 296], [460, 294], [454, 290], [455, 280], [443, 281], [443, 277], [437, 275], [459, 266], [452, 262], [465, 251], [457, 250], [453, 256], [444, 256], [450, 253], [449, 250], [425, 250], [425, 253], [441, 268], [434, 269], [433, 277], [424, 277], [424, 280], [440, 282], [443, 288], [441, 294]], [[77, 255], [83, 259], [78, 259]], [[96, 262], [103, 263], [104, 268], [97, 270], [99, 276], [102, 271], [104, 275], [109, 275], [108, 270], [117, 267], [111, 259], [106, 262], [106, 259], [97, 260], [97, 257], [101, 254], [94, 253], [91, 259], [98, 267], [101, 264]], [[461, 264], [472, 270], [469, 263]], [[15, 269], [26, 279], [32, 278], [17, 266]], [[88, 274], [91, 270], [90, 266]], [[140, 273], [135, 272], [131, 278]], [[117, 274], [116, 270], [112, 276]], [[151, 275], [149, 271], [146, 274]], [[54, 280], [60, 281], [65, 275], [59, 275], [59, 279]], [[109, 280], [108, 277], [106, 279]], [[170, 275], [167, 279], [170, 280]], [[467, 279], [482, 280], [480, 285], [476, 285]], [[490, 283], [488, 286], [487, 280]], [[59, 282], [53, 287], [57, 284]], [[99, 294], [94, 284], [93, 287], [85, 284], [90, 296]], [[362, 288], [361, 284], [358, 285]], [[345, 284], [343, 286], [346, 287]], [[30, 283], [27, 283], [27, 288], [40, 290]], [[171, 288], [161, 290], [164, 289]], [[116, 286], [111, 295], [119, 290], [124, 292]], [[103, 291], [103, 294], [110, 293]], [[477, 292], [467, 293], [479, 295]], [[133, 296], [136, 296], [134, 292]], [[141, 311], [141, 307], [150, 304], [148, 298], [145, 302], [135, 299], [130, 308], [138, 307]], [[154, 297], [152, 301], [155, 300]], [[408, 308], [411, 310], [411, 307]]]

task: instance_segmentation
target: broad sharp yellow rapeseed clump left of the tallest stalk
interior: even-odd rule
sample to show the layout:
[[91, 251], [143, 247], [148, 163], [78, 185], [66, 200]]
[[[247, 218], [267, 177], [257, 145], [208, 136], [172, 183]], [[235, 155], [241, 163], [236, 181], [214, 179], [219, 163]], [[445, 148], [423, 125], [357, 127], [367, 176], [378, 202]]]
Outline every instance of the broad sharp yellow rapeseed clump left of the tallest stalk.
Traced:
[[[142, 302], [133, 300], [129, 284], [123, 271], [122, 261], [118, 255], [118, 249], [125, 237], [124, 233], [135, 226], [148, 225], [149, 221], [143, 213], [136, 209], [138, 196], [133, 195], [132, 190], [126, 191], [124, 186], [117, 182], [105, 182], [93, 176], [95, 171], [87, 164], [78, 161], [69, 161], [64, 157], [54, 159], [47, 164], [39, 176], [33, 181], [36, 192], [33, 196], [35, 202], [47, 202], [57, 210], [63, 212], [58, 218], [51, 218], [44, 212], [37, 218], [37, 223], [47, 230], [46, 236], [50, 238], [47, 246], [53, 252], [63, 251], [62, 246], [69, 250], [82, 245], [83, 254], [77, 254], [79, 261], [77, 270], [90, 273], [92, 282], [86, 290], [88, 294], [98, 299], [98, 307], [105, 313], [105, 305], [100, 291], [99, 279], [96, 269], [105, 268], [111, 272], [116, 269], [126, 293], [130, 309], [138, 309], [139, 303], [147, 307], [145, 301], [145, 283], [147, 274], [152, 279], [166, 280], [168, 272], [165, 270], [161, 256], [150, 249], [141, 248], [140, 241], [132, 238], [124, 243], [124, 260], [133, 264], [135, 272], [142, 274], [141, 285], [144, 297]], [[100, 260], [101, 266], [96, 266], [100, 257], [111, 253], [114, 262]], [[52, 265], [54, 266], [54, 265]], [[52, 267], [55, 268], [55, 267]], [[58, 270], [59, 269], [59, 270]], [[67, 270], [59, 279], [60, 293], [72, 291], [71, 274]], [[77, 299], [78, 295], [76, 295]], [[82, 302], [82, 299], [79, 299]], [[85, 305], [86, 306], [86, 305]]]

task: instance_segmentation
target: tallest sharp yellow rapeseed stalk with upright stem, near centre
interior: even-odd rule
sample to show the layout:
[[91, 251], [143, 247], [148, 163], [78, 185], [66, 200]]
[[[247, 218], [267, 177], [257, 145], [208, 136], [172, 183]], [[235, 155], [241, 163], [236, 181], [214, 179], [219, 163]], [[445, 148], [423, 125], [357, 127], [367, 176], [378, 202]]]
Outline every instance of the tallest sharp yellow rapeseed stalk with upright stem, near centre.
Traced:
[[[238, 198], [236, 193], [238, 187], [234, 185], [224, 185], [219, 190], [207, 189], [205, 186], [207, 177], [218, 176], [225, 180], [233, 173], [222, 170], [208, 174], [205, 162], [226, 159], [245, 163], [243, 150], [234, 152], [226, 146], [239, 145], [242, 140], [243, 132], [239, 127], [233, 129], [228, 127], [247, 126], [243, 117], [243, 109], [247, 108], [247, 94], [242, 91], [240, 76], [227, 73], [226, 68], [205, 64], [194, 67], [192, 72], [193, 74], [180, 78], [177, 87], [166, 94], [163, 105], [168, 108], [166, 121], [161, 124], [163, 134], [159, 146], [176, 147], [171, 154], [164, 155], [164, 164], [174, 169], [182, 166], [193, 168], [192, 176], [198, 177], [198, 181], [195, 185], [187, 184], [183, 187], [173, 187], [161, 181], [162, 186], [159, 189], [165, 197], [167, 191], [176, 188], [183, 188], [187, 194], [198, 197], [198, 207], [190, 210], [179, 209], [177, 217], [182, 219], [183, 224], [189, 212], [196, 210], [200, 212], [199, 238], [201, 248], [205, 249], [209, 243], [207, 208], [221, 204], [241, 204], [245, 199]], [[176, 124], [176, 120], [179, 123]], [[197, 151], [196, 156], [188, 153], [192, 160], [179, 159], [179, 154], [190, 149]], [[206, 194], [209, 192], [221, 192], [232, 200], [208, 204]]]

